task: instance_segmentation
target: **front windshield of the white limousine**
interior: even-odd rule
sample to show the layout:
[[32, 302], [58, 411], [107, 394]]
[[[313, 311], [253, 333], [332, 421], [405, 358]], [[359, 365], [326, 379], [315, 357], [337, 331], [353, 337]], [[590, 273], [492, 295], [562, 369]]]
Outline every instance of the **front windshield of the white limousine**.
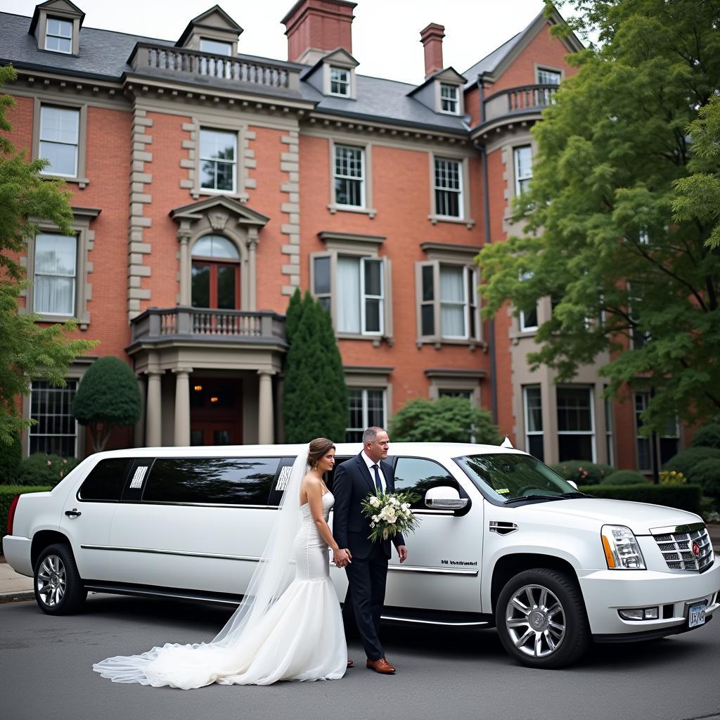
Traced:
[[456, 457], [455, 462], [481, 490], [508, 503], [518, 499], [555, 499], [580, 495], [575, 487], [529, 455], [498, 453]]

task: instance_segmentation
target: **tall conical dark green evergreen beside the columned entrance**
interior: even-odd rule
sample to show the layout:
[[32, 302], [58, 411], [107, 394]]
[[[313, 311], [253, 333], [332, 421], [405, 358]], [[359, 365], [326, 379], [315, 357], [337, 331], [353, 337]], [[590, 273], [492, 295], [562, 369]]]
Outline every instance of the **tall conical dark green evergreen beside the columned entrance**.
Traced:
[[[292, 302], [292, 301], [291, 301]], [[328, 312], [305, 293], [300, 322], [291, 333], [285, 363], [282, 417], [285, 440], [345, 439], [348, 394], [338, 345]]]

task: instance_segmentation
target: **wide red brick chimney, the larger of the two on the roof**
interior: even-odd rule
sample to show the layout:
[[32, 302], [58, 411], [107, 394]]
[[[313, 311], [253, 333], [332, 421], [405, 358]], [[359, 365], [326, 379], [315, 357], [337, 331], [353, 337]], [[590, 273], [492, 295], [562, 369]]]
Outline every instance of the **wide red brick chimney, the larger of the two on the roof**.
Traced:
[[312, 65], [336, 48], [352, 53], [356, 4], [348, 0], [298, 0], [281, 21], [287, 28], [287, 59]]

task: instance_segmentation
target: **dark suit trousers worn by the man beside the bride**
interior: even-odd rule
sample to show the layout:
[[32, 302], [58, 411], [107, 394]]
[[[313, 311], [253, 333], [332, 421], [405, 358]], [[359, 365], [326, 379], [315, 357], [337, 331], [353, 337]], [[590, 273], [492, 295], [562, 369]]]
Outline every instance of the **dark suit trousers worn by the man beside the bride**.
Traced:
[[374, 544], [366, 559], [353, 558], [345, 570], [348, 574], [348, 595], [365, 654], [368, 660], [379, 660], [385, 657], [378, 637], [387, 580], [387, 557], [382, 545]]

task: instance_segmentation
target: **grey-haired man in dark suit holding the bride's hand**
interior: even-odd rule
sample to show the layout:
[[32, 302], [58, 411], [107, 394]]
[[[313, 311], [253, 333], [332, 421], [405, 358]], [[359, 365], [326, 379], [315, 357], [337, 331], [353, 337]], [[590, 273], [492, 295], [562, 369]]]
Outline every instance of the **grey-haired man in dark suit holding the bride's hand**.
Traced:
[[[380, 613], [385, 601], [387, 561], [391, 557], [390, 540], [369, 540], [370, 521], [361, 510], [361, 502], [371, 493], [395, 492], [392, 467], [384, 462], [390, 439], [382, 428], [367, 428], [362, 434], [362, 452], [343, 462], [333, 479], [333, 536], [341, 548], [350, 551], [352, 561], [346, 565], [348, 595], [352, 600], [365, 654], [367, 667], [384, 675], [392, 675], [378, 633]], [[392, 539], [400, 562], [408, 550], [401, 534]]]

